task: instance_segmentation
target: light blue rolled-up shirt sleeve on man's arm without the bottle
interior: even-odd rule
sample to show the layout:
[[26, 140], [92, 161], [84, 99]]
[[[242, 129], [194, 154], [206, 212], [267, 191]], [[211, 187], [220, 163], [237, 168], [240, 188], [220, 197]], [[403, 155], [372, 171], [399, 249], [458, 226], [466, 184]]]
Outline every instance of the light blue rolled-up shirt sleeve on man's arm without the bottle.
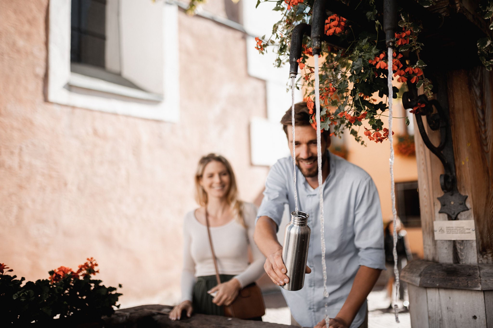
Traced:
[[385, 269], [384, 227], [377, 187], [368, 177], [356, 193], [354, 209], [354, 245], [359, 265]]

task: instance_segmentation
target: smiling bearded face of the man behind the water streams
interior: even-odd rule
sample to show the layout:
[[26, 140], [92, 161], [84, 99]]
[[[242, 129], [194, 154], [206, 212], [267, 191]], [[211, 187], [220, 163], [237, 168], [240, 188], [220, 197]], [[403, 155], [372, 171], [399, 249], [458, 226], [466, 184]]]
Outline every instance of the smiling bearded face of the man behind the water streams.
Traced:
[[[296, 165], [300, 169], [305, 178], [314, 178], [318, 174], [317, 165], [317, 132], [311, 125], [302, 125], [294, 127], [295, 141], [294, 151], [296, 155]], [[328, 133], [328, 132], [323, 132]], [[322, 153], [325, 153], [325, 149], [330, 146], [330, 138], [328, 141], [324, 138], [322, 133], [321, 146]], [[289, 149], [291, 150], [291, 156], [293, 154], [293, 134], [291, 125], [287, 125], [287, 141]], [[325, 156], [322, 156], [322, 163], [326, 160]]]

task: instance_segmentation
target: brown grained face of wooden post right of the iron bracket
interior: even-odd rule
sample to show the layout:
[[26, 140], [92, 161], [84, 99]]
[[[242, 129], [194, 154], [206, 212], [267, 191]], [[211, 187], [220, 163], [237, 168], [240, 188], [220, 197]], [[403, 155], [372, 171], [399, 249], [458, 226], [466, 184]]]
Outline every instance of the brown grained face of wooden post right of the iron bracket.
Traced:
[[475, 263], [475, 257], [479, 263], [493, 263], [492, 73], [482, 67], [450, 72], [448, 88], [458, 190], [469, 195], [470, 210], [458, 218], [474, 219], [477, 238], [456, 243], [459, 263]]

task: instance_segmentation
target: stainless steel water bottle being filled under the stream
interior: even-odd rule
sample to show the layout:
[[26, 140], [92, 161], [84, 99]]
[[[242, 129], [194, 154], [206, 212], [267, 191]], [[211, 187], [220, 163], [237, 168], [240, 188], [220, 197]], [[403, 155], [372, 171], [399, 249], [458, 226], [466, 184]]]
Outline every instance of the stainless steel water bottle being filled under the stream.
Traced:
[[292, 211], [291, 222], [286, 225], [284, 230], [282, 262], [286, 266], [289, 282], [282, 288], [288, 291], [299, 291], [305, 282], [308, 245], [312, 232], [307, 224], [308, 216], [306, 212]]

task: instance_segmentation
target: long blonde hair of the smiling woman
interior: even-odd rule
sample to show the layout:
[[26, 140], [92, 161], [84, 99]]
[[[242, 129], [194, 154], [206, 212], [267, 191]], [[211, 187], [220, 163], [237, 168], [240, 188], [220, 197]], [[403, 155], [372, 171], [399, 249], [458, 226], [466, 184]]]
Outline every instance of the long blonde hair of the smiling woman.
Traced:
[[199, 165], [197, 166], [197, 172], [195, 173], [195, 200], [200, 206], [207, 206], [207, 193], [204, 188], [200, 185], [200, 179], [204, 174], [204, 169], [207, 164], [212, 161], [220, 162], [228, 171], [230, 184], [229, 190], [226, 195], [226, 201], [231, 206], [231, 212], [233, 217], [240, 223], [242, 226], [246, 227], [245, 219], [243, 218], [243, 202], [238, 199], [238, 187], [236, 185], [236, 178], [233, 172], [233, 168], [231, 164], [229, 164], [228, 160], [221, 155], [210, 153], [208, 155], [202, 156], [199, 160]]

